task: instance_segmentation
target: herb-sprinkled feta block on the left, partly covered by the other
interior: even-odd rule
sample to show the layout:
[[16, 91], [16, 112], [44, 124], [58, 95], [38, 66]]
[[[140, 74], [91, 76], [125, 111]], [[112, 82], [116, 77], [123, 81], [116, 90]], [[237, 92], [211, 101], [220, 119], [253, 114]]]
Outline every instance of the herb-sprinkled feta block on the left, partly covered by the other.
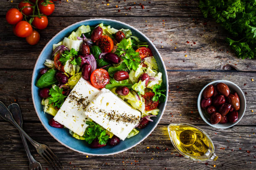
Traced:
[[84, 115], [84, 110], [99, 92], [100, 90], [81, 77], [54, 116], [54, 120], [82, 136], [88, 126], [86, 121], [91, 121]]

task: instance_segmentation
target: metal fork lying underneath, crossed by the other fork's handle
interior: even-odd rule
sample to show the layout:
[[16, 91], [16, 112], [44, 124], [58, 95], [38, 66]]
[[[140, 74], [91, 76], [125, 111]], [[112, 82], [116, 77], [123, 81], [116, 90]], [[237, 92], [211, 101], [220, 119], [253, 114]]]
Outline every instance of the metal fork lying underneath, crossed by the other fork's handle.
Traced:
[[[22, 128], [22, 115], [20, 112], [20, 107], [17, 103], [12, 103], [10, 105], [8, 105], [8, 110], [10, 110], [10, 112], [13, 114], [13, 118], [14, 120], [16, 120], [16, 122], [20, 125], [20, 127]], [[24, 148], [26, 150], [26, 153], [28, 155], [28, 162], [29, 162], [29, 170], [43, 170], [42, 166], [40, 163], [38, 163], [33, 156], [31, 155], [29, 148], [28, 148], [28, 144], [26, 142], [26, 138], [25, 136], [20, 133], [21, 136], [21, 140], [23, 142]]]

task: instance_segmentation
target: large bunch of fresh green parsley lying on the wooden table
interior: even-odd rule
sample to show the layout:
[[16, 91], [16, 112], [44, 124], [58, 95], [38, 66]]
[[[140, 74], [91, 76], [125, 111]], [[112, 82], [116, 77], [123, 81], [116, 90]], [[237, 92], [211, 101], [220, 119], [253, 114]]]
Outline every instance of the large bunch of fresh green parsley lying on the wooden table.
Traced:
[[227, 38], [237, 57], [256, 55], [256, 0], [200, 0], [199, 7], [233, 36]]

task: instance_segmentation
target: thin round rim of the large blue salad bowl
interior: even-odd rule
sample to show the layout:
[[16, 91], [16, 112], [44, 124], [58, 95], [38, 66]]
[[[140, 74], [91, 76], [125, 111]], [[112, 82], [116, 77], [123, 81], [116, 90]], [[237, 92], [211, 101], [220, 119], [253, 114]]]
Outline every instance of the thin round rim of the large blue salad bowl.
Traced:
[[[137, 143], [135, 143], [134, 145], [132, 145], [131, 147], [128, 147], [128, 148], [125, 148], [123, 150], [119, 150], [119, 151], [116, 151], [116, 152], [113, 152], [113, 153], [107, 153], [107, 154], [94, 154], [94, 153], [87, 153], [87, 152], [82, 152], [80, 150], [77, 150], [77, 149], [74, 149], [64, 143], [62, 143], [58, 138], [56, 138], [51, 132], [50, 130], [44, 125], [43, 121], [41, 120], [40, 116], [39, 116], [39, 113], [38, 111], [36, 110], [36, 104], [35, 104], [35, 100], [34, 100], [34, 91], [33, 91], [33, 86], [34, 86], [34, 78], [35, 78], [35, 71], [36, 71], [36, 66], [38, 64], [38, 61], [39, 61], [39, 58], [40, 56], [42, 55], [42, 53], [44, 52], [44, 50], [46, 50], [46, 47], [49, 45], [49, 43], [54, 40], [55, 37], [57, 37], [58, 35], [62, 34], [65, 30], [69, 29], [70, 27], [74, 26], [74, 25], [79, 25], [80, 23], [84, 23], [84, 22], [87, 22], [87, 21], [111, 21], [111, 22], [115, 22], [115, 23], [119, 23], [119, 24], [123, 24], [123, 25], [126, 25], [127, 27], [130, 27], [132, 29], [134, 29], [136, 32], [138, 32], [139, 34], [141, 34], [149, 44], [152, 45], [152, 47], [155, 48], [156, 50], [156, 53], [157, 55], [159, 56], [160, 60], [161, 60], [161, 64], [164, 66], [164, 74], [166, 76], [166, 100], [164, 102], [164, 107], [163, 107], [163, 110], [161, 110], [161, 115], [159, 115], [159, 119], [157, 120], [156, 124], [154, 125], [154, 127], [147, 133], [147, 135], [145, 135], [144, 138], [142, 138], [141, 140], [139, 140]], [[41, 124], [44, 126], [44, 128], [47, 130], [47, 132], [54, 138], [56, 139], [59, 143], [61, 143], [61, 145], [64, 145], [66, 146], [67, 148], [71, 149], [71, 150], [74, 150], [78, 153], [82, 153], [82, 154], [86, 154], [86, 155], [95, 155], [95, 156], [105, 156], [105, 155], [113, 155], [113, 154], [118, 154], [118, 153], [122, 153], [124, 152], [125, 150], [128, 150], [128, 149], [131, 149], [133, 148], [134, 146], [138, 145], [139, 143], [141, 143], [143, 140], [145, 140], [148, 135], [150, 135], [152, 133], [152, 131], [156, 128], [156, 126], [158, 125], [159, 121], [161, 120], [162, 118], [162, 115], [164, 114], [164, 110], [165, 110], [165, 107], [166, 107], [166, 103], [167, 103], [167, 99], [168, 99], [168, 89], [169, 89], [169, 83], [168, 83], [168, 75], [167, 75], [167, 71], [166, 71], [166, 66], [164, 65], [164, 61], [159, 53], [159, 51], [157, 50], [157, 48], [155, 47], [155, 45], [151, 42], [151, 40], [148, 39], [148, 37], [146, 37], [146, 35], [144, 35], [141, 31], [139, 31], [138, 29], [134, 28], [133, 26], [131, 25], [128, 25], [126, 23], [123, 23], [121, 21], [118, 21], [118, 20], [111, 20], [111, 19], [105, 19], [105, 18], [95, 18], [95, 19], [89, 19], [89, 20], [82, 20], [82, 21], [79, 21], [77, 23], [74, 23], [72, 25], [69, 25], [68, 27], [64, 28], [63, 30], [61, 30], [59, 33], [57, 33], [54, 37], [51, 38], [51, 40], [49, 40], [49, 42], [44, 46], [43, 50], [41, 51], [40, 55], [38, 56], [38, 59], [36, 60], [36, 64], [34, 66], [34, 69], [33, 69], [33, 75], [32, 75], [32, 81], [31, 81], [31, 93], [32, 93], [32, 100], [33, 100], [33, 105], [34, 105], [34, 108], [36, 110], [36, 114], [39, 118], [39, 120], [41, 121]]]

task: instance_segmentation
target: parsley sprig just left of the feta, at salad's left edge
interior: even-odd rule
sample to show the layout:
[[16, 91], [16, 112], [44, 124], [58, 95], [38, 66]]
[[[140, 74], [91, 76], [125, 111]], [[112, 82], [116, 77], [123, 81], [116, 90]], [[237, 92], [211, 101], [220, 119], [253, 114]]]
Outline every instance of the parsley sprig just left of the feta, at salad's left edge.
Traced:
[[63, 89], [59, 88], [58, 86], [54, 85], [51, 87], [49, 95], [51, 95], [49, 98], [49, 103], [54, 107], [61, 107], [61, 105], [64, 103], [64, 98], [67, 97], [66, 95], [62, 94]]

